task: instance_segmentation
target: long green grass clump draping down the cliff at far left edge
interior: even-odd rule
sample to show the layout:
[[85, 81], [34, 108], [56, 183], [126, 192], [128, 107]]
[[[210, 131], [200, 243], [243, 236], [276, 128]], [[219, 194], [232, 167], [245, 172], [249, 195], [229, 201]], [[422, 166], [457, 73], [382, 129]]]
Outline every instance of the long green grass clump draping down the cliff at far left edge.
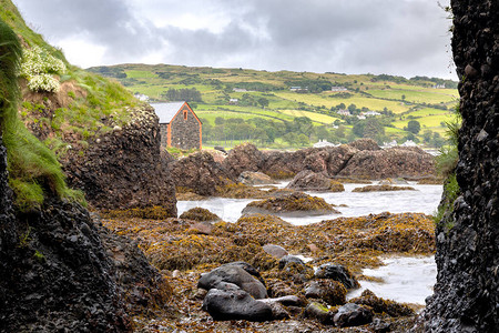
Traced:
[[20, 42], [0, 20], [0, 124], [7, 148], [9, 183], [21, 210], [39, 206], [48, 193], [83, 201], [70, 190], [55, 155], [34, 138], [18, 118], [18, 73], [22, 57]]

